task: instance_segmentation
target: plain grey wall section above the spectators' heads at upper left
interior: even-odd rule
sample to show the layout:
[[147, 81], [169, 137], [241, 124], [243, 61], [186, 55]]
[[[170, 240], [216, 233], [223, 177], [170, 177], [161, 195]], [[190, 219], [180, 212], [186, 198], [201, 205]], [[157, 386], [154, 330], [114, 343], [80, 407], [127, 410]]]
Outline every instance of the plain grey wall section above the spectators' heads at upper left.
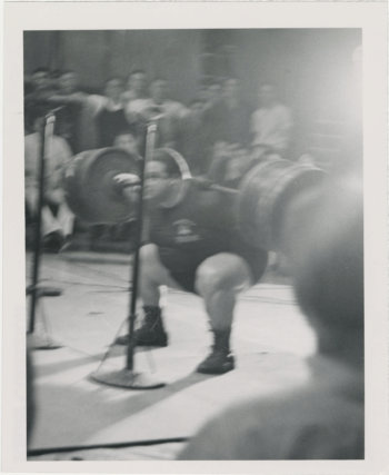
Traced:
[[28, 31], [24, 71], [72, 69], [83, 88], [99, 90], [111, 76], [144, 69], [150, 78], [166, 77], [177, 99], [190, 100], [200, 80], [201, 51], [199, 30]]

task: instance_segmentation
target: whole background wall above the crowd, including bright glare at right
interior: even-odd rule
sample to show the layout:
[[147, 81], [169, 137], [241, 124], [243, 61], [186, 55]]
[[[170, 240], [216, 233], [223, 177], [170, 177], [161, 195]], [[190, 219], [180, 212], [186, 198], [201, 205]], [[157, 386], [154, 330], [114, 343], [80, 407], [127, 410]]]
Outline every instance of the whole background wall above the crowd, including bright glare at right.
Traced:
[[352, 76], [359, 44], [358, 29], [28, 31], [24, 71], [72, 69], [84, 90], [99, 91], [107, 78], [140, 68], [166, 77], [172, 98], [187, 103], [205, 77], [236, 76], [253, 109], [259, 85], [271, 82], [303, 144], [317, 119], [340, 122], [360, 100]]

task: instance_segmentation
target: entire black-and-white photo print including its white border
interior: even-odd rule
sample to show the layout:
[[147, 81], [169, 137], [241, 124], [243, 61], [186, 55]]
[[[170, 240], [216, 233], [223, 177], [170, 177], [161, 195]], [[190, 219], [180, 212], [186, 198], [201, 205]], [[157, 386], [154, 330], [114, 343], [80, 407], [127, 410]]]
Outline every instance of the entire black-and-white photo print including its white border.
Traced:
[[367, 439], [380, 387], [367, 340], [376, 321], [382, 350], [386, 317], [385, 296], [376, 319], [368, 297], [367, 246], [385, 236], [367, 196], [376, 167], [385, 209], [386, 157], [366, 151], [363, 24], [57, 27], [59, 6], [44, 7], [52, 23], [18, 29], [14, 55], [18, 454], [52, 472], [343, 461], [368, 473], [385, 437]]

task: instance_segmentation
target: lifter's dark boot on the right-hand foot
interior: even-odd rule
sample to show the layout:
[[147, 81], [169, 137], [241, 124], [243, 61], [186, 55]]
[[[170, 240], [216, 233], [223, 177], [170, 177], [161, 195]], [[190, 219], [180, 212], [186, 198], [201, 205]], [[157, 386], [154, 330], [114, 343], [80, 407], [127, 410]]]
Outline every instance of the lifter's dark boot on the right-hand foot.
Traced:
[[206, 375], [221, 375], [235, 368], [235, 359], [230, 352], [230, 334], [228, 330], [212, 330], [212, 352], [197, 367], [197, 373]]

